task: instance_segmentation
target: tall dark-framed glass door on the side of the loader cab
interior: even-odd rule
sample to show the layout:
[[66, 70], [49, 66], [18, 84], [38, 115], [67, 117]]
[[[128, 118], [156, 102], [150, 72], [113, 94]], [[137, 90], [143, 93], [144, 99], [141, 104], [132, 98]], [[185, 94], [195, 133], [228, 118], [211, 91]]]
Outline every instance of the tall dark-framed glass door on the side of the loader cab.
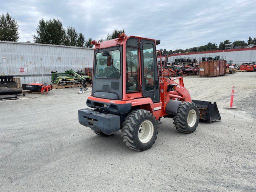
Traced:
[[154, 41], [140, 40], [142, 96], [160, 101], [156, 46]]

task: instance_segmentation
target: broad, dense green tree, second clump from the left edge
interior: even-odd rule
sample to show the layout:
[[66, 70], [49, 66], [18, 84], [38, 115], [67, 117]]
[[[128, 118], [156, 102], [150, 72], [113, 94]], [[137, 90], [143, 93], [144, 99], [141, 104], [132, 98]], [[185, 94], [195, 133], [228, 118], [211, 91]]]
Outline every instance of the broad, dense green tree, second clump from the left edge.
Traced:
[[37, 35], [33, 35], [35, 43], [61, 45], [65, 43], [66, 31], [62, 22], [58, 19], [41, 19], [36, 29]]

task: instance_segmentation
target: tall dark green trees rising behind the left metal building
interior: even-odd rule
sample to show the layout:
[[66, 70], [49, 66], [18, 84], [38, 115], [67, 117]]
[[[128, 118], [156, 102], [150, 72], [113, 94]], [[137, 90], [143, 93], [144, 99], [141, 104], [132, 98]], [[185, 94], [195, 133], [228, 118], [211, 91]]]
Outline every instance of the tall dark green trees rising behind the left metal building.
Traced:
[[[0, 16], [0, 40], [2, 41], [18, 41], [20, 36], [18, 32], [18, 22], [10, 16], [9, 13], [1, 14]], [[118, 38], [118, 34], [125, 33], [124, 29], [115, 29], [112, 33], [108, 33], [105, 39], [100, 41], [110, 40]], [[78, 47], [90, 47], [92, 48], [92, 38], [87, 40], [84, 34], [78, 33], [77, 30], [68, 26], [64, 28], [62, 22], [59, 19], [53, 18], [52, 20], [41, 19], [38, 22], [36, 28], [36, 34], [33, 35], [34, 43], [41, 44], [54, 44], [54, 45], [66, 45], [66, 46], [78, 46]]]

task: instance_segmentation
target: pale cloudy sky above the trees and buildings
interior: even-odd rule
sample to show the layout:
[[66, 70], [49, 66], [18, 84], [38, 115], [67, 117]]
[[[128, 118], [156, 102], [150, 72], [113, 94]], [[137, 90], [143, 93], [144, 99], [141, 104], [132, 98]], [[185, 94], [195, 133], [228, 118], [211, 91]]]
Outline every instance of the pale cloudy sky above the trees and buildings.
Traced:
[[58, 18], [85, 38], [114, 29], [159, 39], [158, 48], [186, 49], [256, 38], [256, 0], [0, 0], [0, 14], [18, 21], [20, 42], [33, 42], [38, 21]]

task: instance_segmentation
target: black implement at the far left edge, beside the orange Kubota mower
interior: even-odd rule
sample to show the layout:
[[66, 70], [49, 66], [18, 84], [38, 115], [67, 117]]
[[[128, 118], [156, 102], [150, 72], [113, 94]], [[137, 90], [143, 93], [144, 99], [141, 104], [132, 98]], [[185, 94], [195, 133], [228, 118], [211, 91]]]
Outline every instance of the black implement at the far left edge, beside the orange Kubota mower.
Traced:
[[22, 93], [13, 79], [13, 76], [0, 76], [0, 100], [18, 99]]

